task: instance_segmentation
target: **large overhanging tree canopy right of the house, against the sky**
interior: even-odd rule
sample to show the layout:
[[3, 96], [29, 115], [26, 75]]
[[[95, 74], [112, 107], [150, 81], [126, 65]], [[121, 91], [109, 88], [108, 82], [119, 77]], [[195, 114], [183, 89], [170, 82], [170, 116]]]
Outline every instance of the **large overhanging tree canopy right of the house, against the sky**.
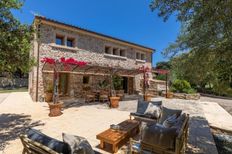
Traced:
[[176, 41], [163, 51], [174, 76], [232, 96], [232, 1], [153, 0], [150, 7], [164, 21], [175, 15], [181, 23]]

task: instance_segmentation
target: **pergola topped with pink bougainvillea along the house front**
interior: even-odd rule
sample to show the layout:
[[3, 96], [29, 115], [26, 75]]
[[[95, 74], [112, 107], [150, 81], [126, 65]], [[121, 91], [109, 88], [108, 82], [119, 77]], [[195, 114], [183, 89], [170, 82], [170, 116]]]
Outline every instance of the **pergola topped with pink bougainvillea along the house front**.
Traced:
[[121, 66], [112, 66], [112, 65], [96, 65], [84, 61], [77, 61], [73, 58], [43, 58], [41, 62], [44, 63], [42, 67], [42, 73], [53, 73], [54, 74], [54, 103], [58, 99], [58, 74], [59, 73], [73, 73], [79, 75], [102, 75], [109, 76], [110, 78], [110, 93], [112, 94], [112, 90], [114, 90], [112, 77], [113, 75], [118, 76], [135, 76], [141, 74], [141, 70], [127, 69], [126, 67]]

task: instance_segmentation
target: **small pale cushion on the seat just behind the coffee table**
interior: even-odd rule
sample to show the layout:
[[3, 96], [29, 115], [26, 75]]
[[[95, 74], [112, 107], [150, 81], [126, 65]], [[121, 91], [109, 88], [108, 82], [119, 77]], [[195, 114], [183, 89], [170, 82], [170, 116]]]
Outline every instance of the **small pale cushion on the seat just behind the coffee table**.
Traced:
[[144, 114], [150, 116], [151, 118], [158, 119], [161, 114], [161, 109], [157, 105], [149, 103]]

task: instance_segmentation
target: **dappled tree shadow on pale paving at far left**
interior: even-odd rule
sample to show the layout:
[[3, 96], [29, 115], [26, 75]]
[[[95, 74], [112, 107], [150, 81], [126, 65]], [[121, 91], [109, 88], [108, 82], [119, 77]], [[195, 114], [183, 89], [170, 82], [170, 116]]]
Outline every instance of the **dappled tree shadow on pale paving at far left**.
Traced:
[[32, 122], [29, 115], [1, 114], [0, 115], [0, 150], [3, 150], [9, 141], [15, 140], [28, 128], [44, 125], [41, 121]]

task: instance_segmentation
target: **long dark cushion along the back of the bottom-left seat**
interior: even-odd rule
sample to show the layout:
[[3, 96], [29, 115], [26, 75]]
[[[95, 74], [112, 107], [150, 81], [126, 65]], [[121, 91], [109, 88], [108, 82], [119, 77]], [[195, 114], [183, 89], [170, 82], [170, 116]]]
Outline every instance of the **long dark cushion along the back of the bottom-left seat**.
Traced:
[[33, 141], [39, 142], [48, 148], [63, 154], [69, 154], [70, 148], [67, 143], [53, 139], [35, 129], [29, 129], [26, 133], [27, 137]]

